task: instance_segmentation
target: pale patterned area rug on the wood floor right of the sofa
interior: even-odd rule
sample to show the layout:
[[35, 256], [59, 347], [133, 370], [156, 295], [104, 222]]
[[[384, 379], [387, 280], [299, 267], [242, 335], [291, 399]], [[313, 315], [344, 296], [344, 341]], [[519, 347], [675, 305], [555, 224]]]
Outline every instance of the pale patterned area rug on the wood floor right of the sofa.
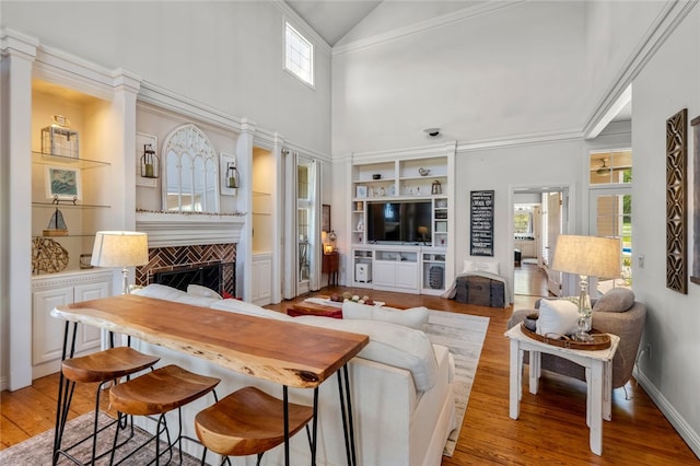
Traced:
[[443, 455], [452, 456], [459, 439], [469, 393], [479, 364], [489, 318], [443, 311], [430, 311], [428, 337], [433, 343], [450, 348], [455, 360], [455, 405], [457, 429], [447, 439]]

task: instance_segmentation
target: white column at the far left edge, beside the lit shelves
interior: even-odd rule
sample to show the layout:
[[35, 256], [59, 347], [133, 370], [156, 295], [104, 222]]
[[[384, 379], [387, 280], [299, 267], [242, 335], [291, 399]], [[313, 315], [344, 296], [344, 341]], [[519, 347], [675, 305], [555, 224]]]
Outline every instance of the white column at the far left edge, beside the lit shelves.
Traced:
[[[1, 34], [0, 117], [0, 361], [7, 386], [32, 384], [32, 67], [38, 40], [14, 31]], [[9, 323], [9, 327], [7, 327]]]

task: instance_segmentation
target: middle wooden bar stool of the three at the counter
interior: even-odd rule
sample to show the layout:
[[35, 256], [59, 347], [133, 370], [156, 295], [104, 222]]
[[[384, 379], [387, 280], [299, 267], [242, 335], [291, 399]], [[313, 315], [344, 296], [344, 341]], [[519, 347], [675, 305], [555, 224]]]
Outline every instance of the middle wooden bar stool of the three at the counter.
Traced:
[[[150, 442], [155, 441], [155, 464], [160, 464], [162, 455], [160, 451], [160, 436], [162, 432], [165, 432], [167, 436], [167, 451], [171, 454], [168, 463], [172, 459], [172, 448], [175, 444], [179, 447], [179, 462], [182, 463], [182, 440], [187, 439], [183, 435], [182, 407], [213, 391], [219, 382], [221, 382], [221, 380], [195, 374], [171, 364], [112, 388], [109, 391], [109, 403], [114, 409], [119, 411], [119, 418], [125, 415], [147, 417], [159, 415], [155, 434], [132, 450], [127, 456], [121, 458], [119, 463], [131, 457]], [[214, 399], [215, 397], [214, 393]], [[165, 422], [165, 413], [174, 409], [177, 409], [179, 422], [177, 438], [171, 441], [170, 431]], [[115, 445], [117, 443], [117, 434], [118, 431], [114, 438]], [[115, 464], [115, 450], [116, 448], [113, 448], [112, 451], [110, 465]], [[163, 452], [163, 454], [165, 454], [165, 452]]]

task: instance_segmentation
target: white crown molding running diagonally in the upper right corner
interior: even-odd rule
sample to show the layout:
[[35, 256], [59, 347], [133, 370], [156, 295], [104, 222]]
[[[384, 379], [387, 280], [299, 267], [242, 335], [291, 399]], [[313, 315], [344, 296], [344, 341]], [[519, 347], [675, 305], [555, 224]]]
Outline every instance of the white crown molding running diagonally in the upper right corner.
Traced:
[[[697, 4], [697, 0], [674, 0], [664, 4], [588, 117], [583, 128], [586, 139], [597, 137], [609, 123], [610, 110], [625, 98], [625, 93], [634, 78]], [[608, 118], [607, 121], [606, 118]]]

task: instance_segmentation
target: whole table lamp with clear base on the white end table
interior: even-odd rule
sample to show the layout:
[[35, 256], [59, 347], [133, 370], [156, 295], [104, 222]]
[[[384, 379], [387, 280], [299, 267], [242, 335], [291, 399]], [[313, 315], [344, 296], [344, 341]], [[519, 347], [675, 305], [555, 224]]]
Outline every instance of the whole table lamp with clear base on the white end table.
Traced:
[[620, 275], [620, 241], [600, 236], [559, 235], [551, 268], [580, 277], [579, 330], [576, 341], [592, 341], [588, 277], [618, 278]]

